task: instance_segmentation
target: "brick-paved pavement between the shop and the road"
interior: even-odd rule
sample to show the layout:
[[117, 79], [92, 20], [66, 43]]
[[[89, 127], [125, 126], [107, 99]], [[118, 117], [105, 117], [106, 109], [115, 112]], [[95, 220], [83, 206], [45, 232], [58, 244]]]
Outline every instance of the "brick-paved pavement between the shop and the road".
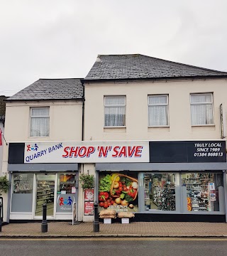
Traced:
[[48, 232], [41, 232], [41, 223], [9, 223], [1, 227], [0, 238], [227, 238], [227, 223], [199, 222], [131, 222], [128, 224], [48, 222]]

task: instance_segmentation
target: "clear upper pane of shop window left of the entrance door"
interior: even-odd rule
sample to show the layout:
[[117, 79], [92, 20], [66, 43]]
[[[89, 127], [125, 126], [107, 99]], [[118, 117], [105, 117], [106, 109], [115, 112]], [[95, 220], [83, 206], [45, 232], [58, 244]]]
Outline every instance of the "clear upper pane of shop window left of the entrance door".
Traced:
[[33, 193], [33, 174], [14, 174], [13, 193]]

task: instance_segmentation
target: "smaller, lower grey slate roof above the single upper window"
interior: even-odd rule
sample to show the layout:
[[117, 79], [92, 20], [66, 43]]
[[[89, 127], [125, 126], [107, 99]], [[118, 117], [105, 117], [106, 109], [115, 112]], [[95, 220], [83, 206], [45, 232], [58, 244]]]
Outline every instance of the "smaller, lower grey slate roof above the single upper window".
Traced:
[[39, 79], [7, 100], [75, 100], [82, 96], [79, 78]]

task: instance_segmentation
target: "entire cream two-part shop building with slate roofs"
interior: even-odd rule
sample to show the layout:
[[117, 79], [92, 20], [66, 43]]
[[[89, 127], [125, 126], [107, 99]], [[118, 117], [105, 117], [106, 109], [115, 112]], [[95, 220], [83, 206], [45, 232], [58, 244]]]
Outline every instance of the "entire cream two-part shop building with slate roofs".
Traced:
[[[8, 219], [41, 218], [48, 203], [48, 219], [69, 220], [75, 202], [77, 219], [93, 221], [98, 201], [135, 221], [226, 221], [226, 78], [144, 55], [99, 55], [82, 80], [38, 80], [38, 98], [37, 82], [18, 92], [6, 105]], [[48, 118], [50, 134], [31, 129], [46, 129]], [[82, 191], [81, 174], [94, 175], [94, 188]]]

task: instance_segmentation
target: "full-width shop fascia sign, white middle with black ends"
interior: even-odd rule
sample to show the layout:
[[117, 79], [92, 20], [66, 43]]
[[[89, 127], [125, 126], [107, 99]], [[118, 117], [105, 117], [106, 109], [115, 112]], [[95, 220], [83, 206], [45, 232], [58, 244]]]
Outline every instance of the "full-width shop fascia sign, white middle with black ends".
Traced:
[[10, 143], [9, 164], [226, 162], [226, 141]]

